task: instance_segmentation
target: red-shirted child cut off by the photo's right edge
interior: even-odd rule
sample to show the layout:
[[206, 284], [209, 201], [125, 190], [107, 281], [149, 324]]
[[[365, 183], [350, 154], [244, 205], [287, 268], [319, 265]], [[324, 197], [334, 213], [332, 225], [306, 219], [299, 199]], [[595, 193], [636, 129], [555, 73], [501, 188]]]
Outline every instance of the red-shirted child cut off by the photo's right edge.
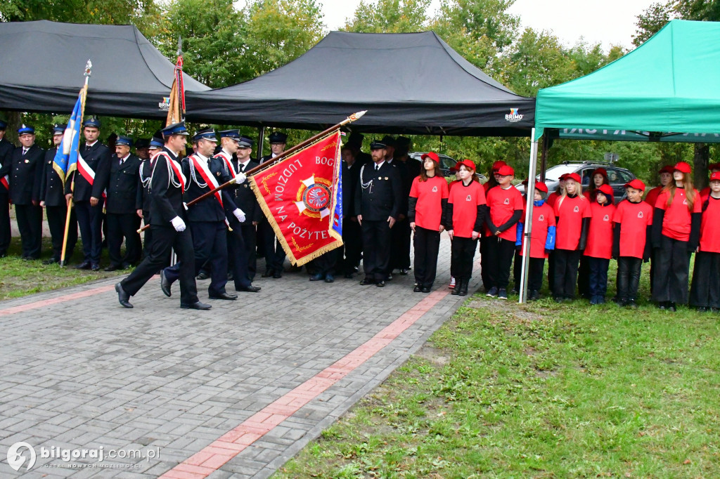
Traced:
[[702, 200], [702, 209], [690, 306], [716, 313], [720, 311], [720, 170], [710, 175], [710, 193]]

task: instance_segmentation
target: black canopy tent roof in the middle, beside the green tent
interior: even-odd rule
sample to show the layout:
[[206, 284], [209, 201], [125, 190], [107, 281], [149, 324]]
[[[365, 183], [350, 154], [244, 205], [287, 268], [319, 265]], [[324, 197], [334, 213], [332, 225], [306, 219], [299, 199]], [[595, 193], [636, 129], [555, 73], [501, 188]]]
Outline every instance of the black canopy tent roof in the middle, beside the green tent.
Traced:
[[196, 122], [324, 129], [348, 114], [360, 132], [529, 136], [535, 99], [474, 67], [434, 32], [330, 32], [251, 81], [187, 94]]

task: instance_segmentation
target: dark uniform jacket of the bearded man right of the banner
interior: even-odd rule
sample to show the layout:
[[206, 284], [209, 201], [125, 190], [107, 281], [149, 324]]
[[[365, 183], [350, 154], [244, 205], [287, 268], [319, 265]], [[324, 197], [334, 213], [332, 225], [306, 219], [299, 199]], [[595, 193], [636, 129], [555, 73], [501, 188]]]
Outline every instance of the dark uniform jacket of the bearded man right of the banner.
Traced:
[[375, 171], [374, 163], [370, 163], [363, 165], [359, 176], [355, 191], [355, 214], [361, 214], [363, 220], [369, 221], [384, 221], [388, 216], [397, 219], [402, 206], [399, 170], [386, 161], [379, 171]]

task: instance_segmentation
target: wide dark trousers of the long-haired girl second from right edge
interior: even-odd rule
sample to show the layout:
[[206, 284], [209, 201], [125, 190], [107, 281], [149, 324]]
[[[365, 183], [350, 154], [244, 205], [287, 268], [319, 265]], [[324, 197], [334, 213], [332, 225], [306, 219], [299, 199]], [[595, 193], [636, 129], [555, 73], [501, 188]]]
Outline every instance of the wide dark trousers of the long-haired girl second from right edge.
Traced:
[[690, 251], [687, 241], [678, 241], [664, 234], [655, 252], [655, 280], [652, 299], [658, 303], [685, 304], [688, 302]]

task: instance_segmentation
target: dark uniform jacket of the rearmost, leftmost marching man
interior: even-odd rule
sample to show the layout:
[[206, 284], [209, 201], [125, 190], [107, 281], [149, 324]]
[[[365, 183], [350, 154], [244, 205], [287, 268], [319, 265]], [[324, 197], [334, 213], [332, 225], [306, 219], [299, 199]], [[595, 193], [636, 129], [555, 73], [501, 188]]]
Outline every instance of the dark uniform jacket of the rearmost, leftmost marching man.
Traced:
[[[163, 147], [155, 157], [150, 181], [150, 224], [171, 228], [175, 216], [180, 216], [183, 221], [187, 216], [182, 204], [182, 189], [176, 186], [181, 182], [168, 164], [168, 157], [177, 161], [175, 154], [167, 147]], [[178, 168], [181, 169], [181, 166], [178, 165]]]

